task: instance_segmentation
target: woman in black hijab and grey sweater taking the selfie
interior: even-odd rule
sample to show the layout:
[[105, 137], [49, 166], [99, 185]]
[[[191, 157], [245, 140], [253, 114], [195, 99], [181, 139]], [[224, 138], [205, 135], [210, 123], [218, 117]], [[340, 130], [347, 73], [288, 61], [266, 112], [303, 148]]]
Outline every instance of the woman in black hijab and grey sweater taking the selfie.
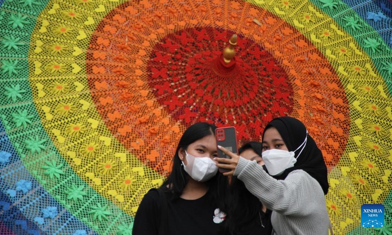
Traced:
[[302, 122], [291, 117], [270, 121], [263, 133], [265, 166], [219, 148], [232, 159], [216, 158], [218, 167], [230, 169], [224, 175], [238, 176], [272, 211], [274, 234], [328, 235], [327, 168]]

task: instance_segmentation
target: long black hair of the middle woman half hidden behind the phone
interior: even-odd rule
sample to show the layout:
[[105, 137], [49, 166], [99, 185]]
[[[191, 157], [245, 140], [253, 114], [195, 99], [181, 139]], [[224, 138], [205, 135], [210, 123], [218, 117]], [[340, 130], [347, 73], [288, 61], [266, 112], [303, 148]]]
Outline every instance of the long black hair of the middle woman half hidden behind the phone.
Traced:
[[[241, 155], [247, 149], [253, 150], [257, 155], [261, 156], [262, 143], [251, 141], [245, 143], [238, 149]], [[262, 210], [260, 200], [250, 193], [246, 188], [244, 182], [239, 180], [236, 176], [231, 178], [230, 197], [226, 201], [227, 208], [227, 222], [226, 226], [231, 235], [243, 235], [251, 233], [252, 226], [248, 226], [252, 221], [260, 221], [259, 212]]]

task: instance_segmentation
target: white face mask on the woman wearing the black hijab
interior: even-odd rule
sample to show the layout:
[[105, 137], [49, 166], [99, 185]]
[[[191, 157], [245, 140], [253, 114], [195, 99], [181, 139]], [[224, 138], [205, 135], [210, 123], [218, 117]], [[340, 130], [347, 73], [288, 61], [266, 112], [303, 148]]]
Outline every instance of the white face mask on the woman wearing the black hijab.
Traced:
[[268, 173], [270, 175], [281, 175], [285, 169], [293, 167], [297, 162], [295, 156], [295, 151], [297, 151], [300, 147], [302, 147], [301, 152], [299, 152], [297, 158], [302, 153], [302, 150], [305, 148], [306, 141], [308, 140], [308, 131], [306, 131], [305, 141], [297, 149], [294, 151], [286, 151], [280, 149], [270, 149], [262, 152], [262, 158]]

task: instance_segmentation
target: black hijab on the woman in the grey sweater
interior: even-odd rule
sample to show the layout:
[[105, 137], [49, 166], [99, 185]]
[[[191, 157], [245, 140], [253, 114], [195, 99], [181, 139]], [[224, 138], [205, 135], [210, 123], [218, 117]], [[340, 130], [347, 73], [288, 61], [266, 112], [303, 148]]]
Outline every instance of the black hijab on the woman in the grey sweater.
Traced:
[[[296, 118], [280, 117], [273, 119], [264, 129], [263, 140], [264, 133], [271, 126], [278, 130], [289, 151], [294, 151], [305, 141], [307, 133], [306, 127]], [[295, 158], [297, 158], [301, 149], [302, 147], [295, 151]], [[281, 175], [274, 178], [283, 180], [290, 172], [299, 169], [306, 171], [310, 176], [315, 178], [319, 182], [324, 194], [327, 194], [329, 188], [327, 166], [325, 165], [320, 149], [309, 134], [306, 145], [297, 158], [297, 162], [294, 166], [286, 169]]]

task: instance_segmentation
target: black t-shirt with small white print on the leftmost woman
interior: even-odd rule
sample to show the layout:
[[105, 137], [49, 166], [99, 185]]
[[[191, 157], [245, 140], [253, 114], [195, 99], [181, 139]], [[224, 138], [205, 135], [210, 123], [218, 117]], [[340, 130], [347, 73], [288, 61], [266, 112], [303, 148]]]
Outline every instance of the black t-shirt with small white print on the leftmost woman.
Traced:
[[[169, 198], [169, 197], [168, 197]], [[161, 199], [155, 190], [147, 192], [133, 223], [133, 235], [158, 235]], [[209, 192], [196, 200], [168, 199], [168, 235], [220, 235], [224, 219]], [[214, 222], [215, 221], [215, 222]], [[219, 223], [221, 222], [221, 223]]]

